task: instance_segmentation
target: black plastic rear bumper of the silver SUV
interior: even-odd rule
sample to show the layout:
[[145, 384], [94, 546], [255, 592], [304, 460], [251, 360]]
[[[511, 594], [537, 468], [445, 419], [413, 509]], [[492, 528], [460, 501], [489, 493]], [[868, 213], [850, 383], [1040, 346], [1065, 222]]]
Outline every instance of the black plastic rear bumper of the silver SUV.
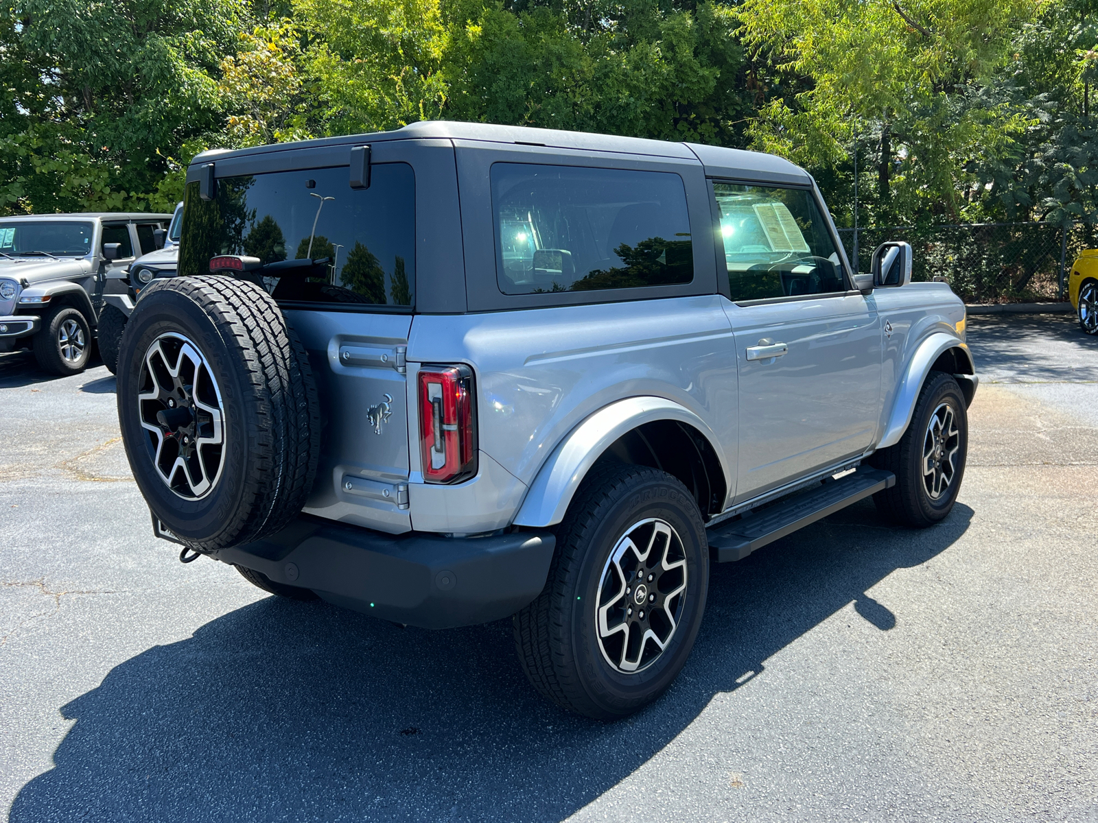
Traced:
[[277, 583], [385, 620], [449, 629], [509, 617], [537, 597], [556, 538], [383, 534], [302, 517], [273, 537], [212, 552]]

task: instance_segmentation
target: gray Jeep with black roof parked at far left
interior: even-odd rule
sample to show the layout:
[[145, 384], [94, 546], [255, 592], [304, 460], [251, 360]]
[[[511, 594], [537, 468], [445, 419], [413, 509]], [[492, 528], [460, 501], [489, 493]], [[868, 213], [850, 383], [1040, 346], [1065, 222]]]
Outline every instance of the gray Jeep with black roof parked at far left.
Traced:
[[[111, 339], [103, 311], [125, 267], [156, 248], [170, 214], [81, 213], [0, 218], [0, 351], [31, 346], [54, 374], [88, 367]], [[105, 325], [103, 323], [105, 320]]]

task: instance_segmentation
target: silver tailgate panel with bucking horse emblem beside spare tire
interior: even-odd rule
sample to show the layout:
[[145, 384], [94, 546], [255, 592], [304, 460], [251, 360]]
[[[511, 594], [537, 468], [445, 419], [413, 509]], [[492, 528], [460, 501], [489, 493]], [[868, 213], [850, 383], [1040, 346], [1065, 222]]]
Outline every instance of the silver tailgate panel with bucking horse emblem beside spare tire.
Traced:
[[306, 514], [393, 534], [410, 531], [404, 356], [412, 317], [285, 312], [321, 394], [324, 433]]

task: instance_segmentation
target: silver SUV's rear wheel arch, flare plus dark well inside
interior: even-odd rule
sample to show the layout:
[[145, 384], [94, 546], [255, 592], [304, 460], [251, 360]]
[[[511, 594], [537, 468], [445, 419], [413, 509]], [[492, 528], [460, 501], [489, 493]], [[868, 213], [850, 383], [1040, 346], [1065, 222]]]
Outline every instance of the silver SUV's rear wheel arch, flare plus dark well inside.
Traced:
[[616, 459], [679, 477], [703, 515], [718, 512], [731, 477], [714, 432], [685, 406], [663, 397], [629, 397], [595, 412], [570, 431], [538, 471], [515, 526], [559, 523], [596, 463]]

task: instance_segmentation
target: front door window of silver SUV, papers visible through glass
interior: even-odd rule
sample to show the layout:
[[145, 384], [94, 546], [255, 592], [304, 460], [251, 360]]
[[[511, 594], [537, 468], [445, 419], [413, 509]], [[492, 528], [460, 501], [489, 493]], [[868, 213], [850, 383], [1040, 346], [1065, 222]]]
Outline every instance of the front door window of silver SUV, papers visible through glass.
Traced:
[[845, 291], [810, 191], [714, 183], [714, 192], [733, 301]]

